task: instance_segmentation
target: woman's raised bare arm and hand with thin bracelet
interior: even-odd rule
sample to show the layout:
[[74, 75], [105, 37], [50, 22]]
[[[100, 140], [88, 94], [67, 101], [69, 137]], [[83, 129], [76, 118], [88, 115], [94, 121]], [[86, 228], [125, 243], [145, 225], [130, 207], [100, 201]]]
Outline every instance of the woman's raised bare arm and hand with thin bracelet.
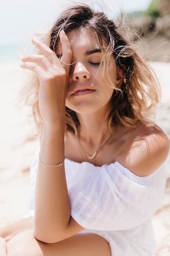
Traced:
[[[33, 44], [46, 57], [24, 57], [21, 65], [35, 72], [40, 80], [39, 107], [44, 124], [40, 159], [44, 164], [53, 165], [64, 160], [65, 100], [72, 58], [68, 38], [63, 33], [60, 33], [61, 60], [49, 47], [33, 40]], [[35, 193], [35, 237], [42, 242], [54, 243], [82, 229], [71, 218], [64, 164], [50, 167], [39, 163]]]

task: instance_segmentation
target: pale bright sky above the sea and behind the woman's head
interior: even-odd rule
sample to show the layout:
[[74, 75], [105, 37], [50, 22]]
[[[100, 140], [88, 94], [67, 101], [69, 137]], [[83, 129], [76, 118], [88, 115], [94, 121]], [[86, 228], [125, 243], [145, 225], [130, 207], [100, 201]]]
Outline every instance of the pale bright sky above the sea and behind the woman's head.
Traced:
[[[81, 0], [81, 2], [102, 0]], [[76, 1], [75, 1], [76, 2]], [[144, 11], [151, 0], [103, 0], [111, 13], [121, 9], [125, 12]], [[65, 0], [3, 0], [0, 8], [0, 45], [24, 43], [38, 29], [49, 27]]]

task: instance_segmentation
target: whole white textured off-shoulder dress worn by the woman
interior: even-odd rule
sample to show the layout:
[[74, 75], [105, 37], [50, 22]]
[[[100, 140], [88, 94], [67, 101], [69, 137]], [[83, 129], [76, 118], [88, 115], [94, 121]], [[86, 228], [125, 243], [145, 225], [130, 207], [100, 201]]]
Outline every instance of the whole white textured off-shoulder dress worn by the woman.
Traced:
[[[34, 209], [38, 152], [31, 166], [31, 216]], [[85, 229], [108, 240], [112, 256], [154, 256], [150, 217], [166, 184], [165, 164], [139, 177], [119, 162], [96, 167], [65, 159], [71, 216]]]

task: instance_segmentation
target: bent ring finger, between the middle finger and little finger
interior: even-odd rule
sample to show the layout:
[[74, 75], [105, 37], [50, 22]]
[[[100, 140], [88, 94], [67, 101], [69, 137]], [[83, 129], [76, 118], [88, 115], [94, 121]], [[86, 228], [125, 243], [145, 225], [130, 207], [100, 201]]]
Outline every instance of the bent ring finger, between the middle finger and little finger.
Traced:
[[23, 63], [25, 62], [36, 63], [37, 65], [42, 67], [45, 71], [49, 70], [49, 68], [52, 67], [51, 62], [44, 55], [25, 56], [21, 58], [21, 61]]

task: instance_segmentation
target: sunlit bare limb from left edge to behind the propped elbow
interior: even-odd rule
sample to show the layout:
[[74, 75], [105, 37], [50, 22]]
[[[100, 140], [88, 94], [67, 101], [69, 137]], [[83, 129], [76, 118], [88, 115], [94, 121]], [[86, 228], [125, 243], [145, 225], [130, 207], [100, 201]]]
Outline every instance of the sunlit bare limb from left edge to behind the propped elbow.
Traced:
[[2, 227], [0, 229], [0, 237], [4, 238], [7, 241], [9, 241], [11, 238], [13, 238], [15, 235], [19, 234], [22, 231], [28, 230], [28, 229], [34, 229], [34, 218], [29, 217], [22, 219], [12, 225], [9, 225], [7, 227]]

